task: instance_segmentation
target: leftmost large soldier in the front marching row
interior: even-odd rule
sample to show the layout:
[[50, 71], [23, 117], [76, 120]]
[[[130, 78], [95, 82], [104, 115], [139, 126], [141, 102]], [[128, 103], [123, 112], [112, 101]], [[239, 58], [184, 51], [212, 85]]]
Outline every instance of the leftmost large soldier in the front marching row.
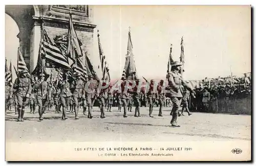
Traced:
[[13, 88], [16, 89], [16, 97], [18, 103], [18, 121], [23, 122], [24, 113], [25, 113], [25, 105], [27, 103], [27, 99], [30, 98], [31, 94], [31, 82], [30, 79], [26, 77], [28, 72], [26, 70], [22, 70], [18, 73], [18, 78], [16, 78]]

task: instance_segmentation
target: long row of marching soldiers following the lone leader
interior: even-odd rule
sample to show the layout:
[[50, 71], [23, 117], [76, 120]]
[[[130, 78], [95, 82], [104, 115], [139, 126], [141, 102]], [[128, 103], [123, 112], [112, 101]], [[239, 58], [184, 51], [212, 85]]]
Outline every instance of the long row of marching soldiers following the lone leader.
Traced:
[[[38, 105], [38, 114], [39, 120], [44, 120], [43, 115], [46, 111], [47, 106], [54, 101], [55, 110], [59, 112], [62, 107], [62, 120], [67, 119], [67, 106], [70, 103], [70, 100], [73, 100], [75, 119], [78, 117], [79, 105], [82, 102], [83, 113], [85, 114], [86, 109], [88, 108], [88, 118], [93, 118], [92, 116], [92, 106], [95, 101], [95, 98], [100, 103], [100, 118], [105, 118], [105, 101], [108, 100], [108, 104], [111, 106], [113, 104], [113, 92], [110, 88], [101, 89], [98, 92], [99, 81], [96, 81], [96, 84], [91, 82], [88, 86], [90, 93], [85, 90], [85, 82], [82, 81], [81, 75], [79, 73], [75, 74], [75, 79], [72, 81], [69, 79], [69, 76], [63, 74], [62, 79], [59, 79], [58, 82], [49, 84], [46, 80], [49, 75], [41, 73], [37, 76], [38, 79], [30, 79], [28, 77], [28, 72], [26, 70], [18, 73], [18, 78], [15, 80], [13, 89], [14, 89], [14, 98], [17, 107], [15, 107], [15, 113], [18, 114], [18, 121], [24, 121], [25, 105], [27, 102], [30, 102], [31, 113], [35, 113], [35, 104]], [[89, 76], [90, 80], [94, 80], [92, 76]], [[124, 80], [121, 84], [122, 93], [117, 93], [116, 97], [118, 98], [118, 110], [121, 111], [121, 105], [123, 106], [124, 113], [123, 117], [127, 117], [127, 106], [128, 102], [133, 98], [135, 105], [135, 117], [140, 117], [140, 101], [141, 93], [143, 91], [137, 92], [139, 79], [136, 80], [136, 86], [133, 89], [129, 89], [127, 92], [124, 92], [124, 85], [126, 81]], [[104, 82], [102, 84], [105, 84]], [[105, 85], [102, 85], [104, 87]], [[149, 116], [152, 116], [153, 105], [155, 100], [159, 101], [159, 116], [162, 116], [162, 107], [164, 103], [164, 94], [161, 93], [161, 87], [163, 86], [163, 80], [160, 81], [160, 84], [157, 87], [158, 93], [154, 93], [154, 80], [151, 80], [150, 88], [146, 94], [150, 111]], [[111, 107], [110, 107], [111, 111]]]

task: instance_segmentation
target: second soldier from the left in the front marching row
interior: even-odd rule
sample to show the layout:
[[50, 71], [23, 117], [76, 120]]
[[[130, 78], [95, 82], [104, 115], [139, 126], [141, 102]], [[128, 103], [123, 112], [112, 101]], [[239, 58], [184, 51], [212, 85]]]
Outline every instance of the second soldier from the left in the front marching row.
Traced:
[[38, 83], [35, 85], [35, 89], [37, 90], [36, 94], [36, 101], [38, 105], [38, 114], [39, 114], [39, 120], [44, 120], [42, 118], [42, 115], [45, 112], [46, 106], [47, 106], [47, 100], [50, 98], [51, 89], [48, 86], [47, 78], [49, 75], [45, 75], [44, 73], [41, 73], [38, 75]]

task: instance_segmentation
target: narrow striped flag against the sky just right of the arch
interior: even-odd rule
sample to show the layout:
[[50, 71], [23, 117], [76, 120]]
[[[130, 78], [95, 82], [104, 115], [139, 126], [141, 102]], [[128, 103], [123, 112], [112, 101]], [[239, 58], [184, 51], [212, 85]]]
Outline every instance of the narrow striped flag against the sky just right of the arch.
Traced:
[[98, 44], [99, 44], [99, 59], [100, 59], [101, 70], [102, 70], [102, 80], [110, 80], [108, 63], [105, 60], [105, 56], [103, 55], [103, 50], [100, 44], [99, 30], [98, 30]]

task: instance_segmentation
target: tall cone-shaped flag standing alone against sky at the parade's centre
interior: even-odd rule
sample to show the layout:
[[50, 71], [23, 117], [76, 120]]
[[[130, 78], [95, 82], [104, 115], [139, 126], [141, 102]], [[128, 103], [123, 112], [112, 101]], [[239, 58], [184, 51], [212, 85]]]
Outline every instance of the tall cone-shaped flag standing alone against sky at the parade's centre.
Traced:
[[123, 73], [121, 79], [137, 79], [137, 71], [135, 67], [134, 54], [133, 54], [133, 44], [131, 39], [131, 31], [129, 27], [128, 33], [128, 44], [127, 44], [127, 54], [125, 56], [125, 65], [123, 68]]

